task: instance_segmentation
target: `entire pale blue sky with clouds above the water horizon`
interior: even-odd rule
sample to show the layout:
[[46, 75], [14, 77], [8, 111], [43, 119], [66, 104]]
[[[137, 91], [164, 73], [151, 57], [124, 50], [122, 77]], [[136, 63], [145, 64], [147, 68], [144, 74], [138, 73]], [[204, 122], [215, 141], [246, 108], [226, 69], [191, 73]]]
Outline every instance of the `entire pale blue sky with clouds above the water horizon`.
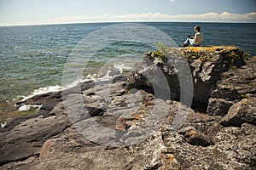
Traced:
[[134, 21], [256, 23], [256, 0], [0, 0], [0, 26]]

